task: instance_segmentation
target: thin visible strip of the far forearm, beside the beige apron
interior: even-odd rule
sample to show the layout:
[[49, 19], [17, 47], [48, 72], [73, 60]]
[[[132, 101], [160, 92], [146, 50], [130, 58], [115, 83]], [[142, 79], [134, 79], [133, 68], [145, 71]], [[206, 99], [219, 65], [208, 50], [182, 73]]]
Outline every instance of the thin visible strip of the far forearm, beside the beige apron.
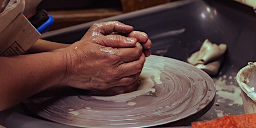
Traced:
[[26, 54], [48, 52], [68, 46], [70, 46], [70, 44], [56, 43], [40, 39], [26, 52]]

